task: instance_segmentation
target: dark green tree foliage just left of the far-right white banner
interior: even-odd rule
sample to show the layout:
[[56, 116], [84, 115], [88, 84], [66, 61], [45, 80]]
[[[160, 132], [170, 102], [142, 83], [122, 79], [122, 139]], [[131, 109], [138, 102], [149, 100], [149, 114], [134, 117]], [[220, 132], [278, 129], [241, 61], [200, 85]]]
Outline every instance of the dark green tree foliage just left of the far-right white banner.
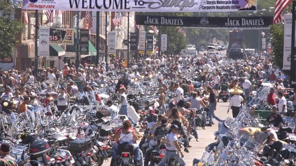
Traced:
[[[284, 48], [284, 25], [283, 24], [273, 24], [270, 27], [271, 45], [272, 45], [272, 56], [274, 64], [282, 68], [283, 67], [283, 48]], [[285, 72], [285, 71], [284, 71]], [[287, 71], [285, 72], [286, 74]]]

